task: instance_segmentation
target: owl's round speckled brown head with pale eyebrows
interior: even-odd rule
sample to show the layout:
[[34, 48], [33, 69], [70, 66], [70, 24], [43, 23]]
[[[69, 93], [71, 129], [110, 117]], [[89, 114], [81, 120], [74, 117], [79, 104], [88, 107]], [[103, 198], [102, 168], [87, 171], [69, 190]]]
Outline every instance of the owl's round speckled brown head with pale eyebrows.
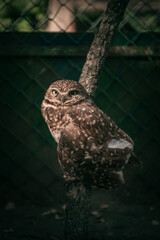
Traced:
[[83, 86], [73, 80], [58, 80], [48, 88], [45, 101], [54, 106], [72, 106], [89, 99]]

